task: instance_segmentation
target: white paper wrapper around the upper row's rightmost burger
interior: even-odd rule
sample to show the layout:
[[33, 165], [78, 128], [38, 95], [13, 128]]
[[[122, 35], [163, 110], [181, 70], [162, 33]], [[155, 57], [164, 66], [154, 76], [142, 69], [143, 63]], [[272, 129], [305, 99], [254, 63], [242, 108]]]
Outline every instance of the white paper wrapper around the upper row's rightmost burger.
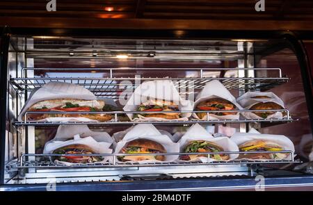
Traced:
[[[251, 97], [256, 96], [268, 96], [268, 99], [252, 99]], [[237, 102], [246, 110], [250, 109], [255, 104], [258, 104], [259, 102], [274, 102], [276, 104], [279, 104], [284, 108], [284, 102], [282, 99], [280, 99], [277, 95], [275, 95], [273, 92], [246, 92], [245, 94], [241, 95], [241, 97], [237, 98]], [[246, 119], [264, 119], [262, 117], [259, 117], [258, 115], [255, 115], [254, 113], [242, 113], [243, 117], [246, 117]], [[268, 115], [266, 119], [282, 119], [282, 113], [276, 112], [273, 115]]]

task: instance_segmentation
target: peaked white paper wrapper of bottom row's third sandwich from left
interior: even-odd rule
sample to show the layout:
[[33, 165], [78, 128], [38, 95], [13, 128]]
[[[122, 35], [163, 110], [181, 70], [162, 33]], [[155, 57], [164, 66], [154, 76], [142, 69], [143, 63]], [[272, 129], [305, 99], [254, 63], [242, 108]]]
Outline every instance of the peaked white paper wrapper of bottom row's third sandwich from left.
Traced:
[[[218, 137], [214, 138], [208, 133], [200, 124], [194, 124], [190, 129], [182, 136], [182, 138], [178, 141], [180, 152], [184, 152], [184, 148], [188, 145], [189, 142], [193, 140], [206, 140], [209, 142], [214, 142], [220, 147], [223, 147], [224, 151], [239, 151], [238, 146], [227, 137]], [[237, 158], [239, 154], [230, 154], [230, 159], [228, 161], [232, 161]], [[181, 161], [181, 160], [178, 160]], [[202, 163], [207, 163], [208, 158], [204, 156], [200, 156], [191, 161], [201, 161]], [[216, 161], [214, 158], [210, 158], [210, 161]], [[181, 161], [186, 162], [186, 161]], [[190, 161], [189, 161], [190, 162]]]

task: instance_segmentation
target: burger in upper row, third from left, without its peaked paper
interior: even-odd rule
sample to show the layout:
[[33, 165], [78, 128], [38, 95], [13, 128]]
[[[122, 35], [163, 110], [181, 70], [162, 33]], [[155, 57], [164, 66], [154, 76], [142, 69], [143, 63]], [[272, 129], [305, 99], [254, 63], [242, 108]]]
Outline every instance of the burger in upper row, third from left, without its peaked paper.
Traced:
[[[197, 106], [195, 106], [195, 110], [235, 110], [236, 106], [232, 104], [232, 102], [228, 101], [227, 99], [222, 98], [211, 98], [205, 101], [201, 101]], [[203, 117], [207, 116], [207, 113], [197, 113], [198, 117], [202, 119]], [[236, 115], [236, 113], [230, 112], [220, 112], [214, 113], [214, 115]]]

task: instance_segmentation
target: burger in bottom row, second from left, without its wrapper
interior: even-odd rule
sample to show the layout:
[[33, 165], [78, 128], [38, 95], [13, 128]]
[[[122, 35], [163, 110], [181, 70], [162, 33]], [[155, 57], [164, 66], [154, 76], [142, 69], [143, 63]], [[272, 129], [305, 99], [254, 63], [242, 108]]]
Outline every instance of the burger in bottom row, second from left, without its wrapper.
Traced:
[[165, 156], [161, 155], [166, 153], [166, 149], [158, 142], [147, 139], [138, 139], [128, 142], [125, 147], [122, 148], [122, 154], [160, 154], [160, 155], [129, 155], [129, 156], [118, 156], [120, 161], [143, 161], [143, 160], [157, 160], [165, 161]]

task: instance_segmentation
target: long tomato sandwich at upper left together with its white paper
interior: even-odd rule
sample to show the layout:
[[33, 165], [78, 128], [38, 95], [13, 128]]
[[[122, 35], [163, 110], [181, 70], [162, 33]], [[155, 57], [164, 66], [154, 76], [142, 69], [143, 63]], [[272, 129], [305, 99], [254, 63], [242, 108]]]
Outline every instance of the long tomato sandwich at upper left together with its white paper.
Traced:
[[[24, 120], [26, 112], [56, 112], [27, 114], [27, 121], [71, 122], [92, 121], [105, 122], [112, 119], [111, 115], [93, 114], [102, 111], [105, 102], [97, 100], [92, 92], [79, 85], [61, 82], [49, 82], [38, 90], [33, 91], [31, 97], [18, 119]], [[62, 113], [61, 113], [62, 112]], [[67, 112], [90, 112], [70, 114]]]

